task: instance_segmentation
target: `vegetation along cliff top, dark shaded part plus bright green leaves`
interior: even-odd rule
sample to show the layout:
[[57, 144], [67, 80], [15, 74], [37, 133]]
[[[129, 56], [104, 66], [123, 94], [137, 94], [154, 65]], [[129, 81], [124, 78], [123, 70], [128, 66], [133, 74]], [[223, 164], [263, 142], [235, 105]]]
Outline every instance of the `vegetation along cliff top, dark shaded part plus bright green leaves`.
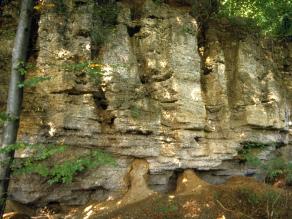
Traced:
[[[153, 0], [156, 4], [166, 0]], [[192, 15], [205, 26], [209, 18], [228, 18], [234, 25], [258, 29], [265, 36], [292, 39], [290, 0], [177, 0], [192, 5]]]

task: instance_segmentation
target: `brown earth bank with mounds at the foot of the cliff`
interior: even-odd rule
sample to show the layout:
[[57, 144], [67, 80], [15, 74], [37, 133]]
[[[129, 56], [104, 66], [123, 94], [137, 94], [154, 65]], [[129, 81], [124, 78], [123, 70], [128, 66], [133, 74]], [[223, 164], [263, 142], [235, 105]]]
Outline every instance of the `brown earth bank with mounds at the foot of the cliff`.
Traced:
[[[137, 165], [143, 167], [141, 162]], [[178, 178], [176, 191], [169, 194], [151, 192], [142, 180], [137, 180], [144, 177], [133, 178], [128, 193], [121, 199], [89, 203], [59, 213], [45, 208], [31, 218], [292, 218], [292, 193], [289, 189], [276, 188], [248, 177], [232, 177], [222, 185], [210, 185], [192, 170], [186, 170]], [[10, 212], [4, 218], [26, 218], [25, 213], [19, 212], [20, 217], [16, 217], [16, 213]]]

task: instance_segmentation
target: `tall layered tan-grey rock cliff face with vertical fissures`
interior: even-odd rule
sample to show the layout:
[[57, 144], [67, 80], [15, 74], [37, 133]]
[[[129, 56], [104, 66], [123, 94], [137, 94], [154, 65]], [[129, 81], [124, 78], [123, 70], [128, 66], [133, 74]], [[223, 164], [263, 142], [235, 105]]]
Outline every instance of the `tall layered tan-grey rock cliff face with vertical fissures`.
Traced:
[[[147, 0], [134, 10], [121, 1], [114, 28], [93, 54], [92, 32], [103, 31], [95, 3], [64, 2], [65, 11], [43, 12], [38, 21], [37, 70], [28, 78], [50, 80], [25, 89], [19, 140], [69, 145], [62, 159], [100, 148], [117, 165], [80, 173], [69, 185], [17, 176], [13, 200], [79, 205], [120, 196], [136, 158], [149, 164], [150, 188], [166, 191], [178, 170], [244, 174], [224, 164], [242, 142], [291, 141], [291, 43], [237, 33], [220, 21], [201, 30], [188, 7]], [[9, 57], [5, 51], [1, 46], [1, 56]], [[96, 82], [66, 68], [74, 63], [97, 63], [103, 76]]]

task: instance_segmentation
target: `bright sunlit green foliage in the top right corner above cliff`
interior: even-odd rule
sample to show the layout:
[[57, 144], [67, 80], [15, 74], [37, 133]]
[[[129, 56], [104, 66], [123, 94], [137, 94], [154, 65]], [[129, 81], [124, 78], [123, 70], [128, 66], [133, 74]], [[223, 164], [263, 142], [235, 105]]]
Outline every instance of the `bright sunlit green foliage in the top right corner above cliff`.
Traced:
[[265, 35], [292, 37], [290, 0], [222, 0], [219, 13], [229, 18], [252, 20]]

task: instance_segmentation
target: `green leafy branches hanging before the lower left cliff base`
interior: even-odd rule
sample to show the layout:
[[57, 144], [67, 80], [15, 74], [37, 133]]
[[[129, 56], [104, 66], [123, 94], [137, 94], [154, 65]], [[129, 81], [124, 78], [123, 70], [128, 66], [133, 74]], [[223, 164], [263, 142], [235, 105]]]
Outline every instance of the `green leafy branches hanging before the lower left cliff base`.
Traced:
[[95, 149], [88, 154], [75, 159], [65, 160], [53, 165], [45, 161], [54, 155], [65, 152], [66, 145], [43, 145], [17, 143], [1, 148], [0, 153], [10, 153], [15, 150], [26, 149], [33, 152], [33, 156], [21, 160], [14, 160], [12, 169], [15, 174], [35, 173], [47, 177], [48, 183], [70, 183], [74, 176], [82, 171], [95, 168], [100, 165], [115, 165], [115, 160], [109, 154]]

